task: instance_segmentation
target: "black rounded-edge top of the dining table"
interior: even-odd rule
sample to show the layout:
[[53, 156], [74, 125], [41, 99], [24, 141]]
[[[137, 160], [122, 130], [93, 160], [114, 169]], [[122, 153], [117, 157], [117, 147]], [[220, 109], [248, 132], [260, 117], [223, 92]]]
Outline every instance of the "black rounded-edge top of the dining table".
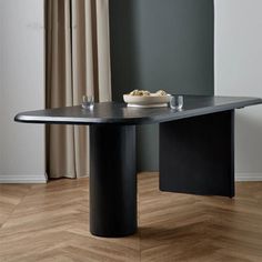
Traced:
[[92, 111], [81, 105], [22, 112], [18, 122], [56, 124], [145, 124], [168, 122], [208, 113], [260, 104], [260, 98], [184, 95], [181, 111], [167, 108], [128, 108], [125, 103], [95, 103]]

